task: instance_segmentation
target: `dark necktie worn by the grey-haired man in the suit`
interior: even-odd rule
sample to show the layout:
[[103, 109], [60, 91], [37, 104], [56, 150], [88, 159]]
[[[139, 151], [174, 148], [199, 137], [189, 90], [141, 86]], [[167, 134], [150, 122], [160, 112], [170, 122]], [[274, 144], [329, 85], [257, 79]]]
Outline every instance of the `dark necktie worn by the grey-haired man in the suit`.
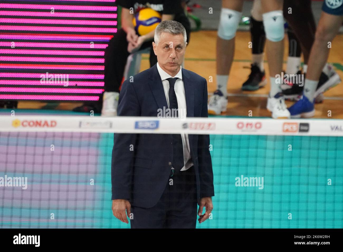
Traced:
[[[169, 82], [169, 108], [171, 109], [171, 115], [174, 115], [172, 109], [176, 109], [178, 115], [177, 98], [175, 94], [175, 82], [179, 78], [168, 78]], [[184, 147], [182, 145], [181, 134], [172, 134], [173, 143], [173, 164], [172, 166], [176, 171], [179, 171], [184, 167]]]

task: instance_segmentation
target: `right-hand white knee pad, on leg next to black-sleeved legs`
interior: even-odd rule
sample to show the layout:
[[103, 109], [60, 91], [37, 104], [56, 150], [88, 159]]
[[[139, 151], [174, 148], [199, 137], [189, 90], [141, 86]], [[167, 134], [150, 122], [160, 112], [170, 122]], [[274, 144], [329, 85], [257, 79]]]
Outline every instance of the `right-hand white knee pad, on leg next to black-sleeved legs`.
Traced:
[[285, 36], [282, 10], [262, 14], [265, 36], [273, 42], [281, 41]]

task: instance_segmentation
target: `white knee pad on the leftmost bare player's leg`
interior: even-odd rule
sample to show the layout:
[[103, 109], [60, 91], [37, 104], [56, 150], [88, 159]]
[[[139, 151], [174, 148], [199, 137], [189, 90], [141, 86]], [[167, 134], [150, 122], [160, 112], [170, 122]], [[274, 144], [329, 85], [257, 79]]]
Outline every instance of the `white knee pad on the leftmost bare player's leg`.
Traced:
[[218, 27], [218, 37], [229, 40], [236, 36], [242, 13], [235, 10], [222, 8]]

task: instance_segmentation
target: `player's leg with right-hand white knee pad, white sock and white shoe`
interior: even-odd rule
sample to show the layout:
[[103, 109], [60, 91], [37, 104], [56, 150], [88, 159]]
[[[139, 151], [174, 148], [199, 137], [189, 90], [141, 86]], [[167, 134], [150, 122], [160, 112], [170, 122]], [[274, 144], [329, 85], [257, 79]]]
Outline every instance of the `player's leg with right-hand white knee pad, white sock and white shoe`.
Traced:
[[267, 109], [273, 118], [289, 118], [281, 90], [281, 72], [284, 52], [283, 0], [261, 0], [263, 25], [267, 37], [267, 58], [270, 74], [270, 93]]

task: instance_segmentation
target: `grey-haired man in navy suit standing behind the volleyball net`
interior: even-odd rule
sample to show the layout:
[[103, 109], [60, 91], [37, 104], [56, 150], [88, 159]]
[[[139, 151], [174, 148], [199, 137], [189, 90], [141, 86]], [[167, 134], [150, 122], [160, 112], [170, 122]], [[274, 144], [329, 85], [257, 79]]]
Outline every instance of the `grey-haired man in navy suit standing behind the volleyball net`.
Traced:
[[[177, 117], [208, 117], [206, 80], [181, 68], [186, 39], [176, 21], [156, 27], [157, 63], [123, 83], [118, 116], [157, 117], [169, 109]], [[199, 204], [199, 223], [208, 219], [214, 196], [209, 144], [209, 135], [115, 134], [113, 215], [128, 223], [127, 212], [131, 228], [195, 228]]]

